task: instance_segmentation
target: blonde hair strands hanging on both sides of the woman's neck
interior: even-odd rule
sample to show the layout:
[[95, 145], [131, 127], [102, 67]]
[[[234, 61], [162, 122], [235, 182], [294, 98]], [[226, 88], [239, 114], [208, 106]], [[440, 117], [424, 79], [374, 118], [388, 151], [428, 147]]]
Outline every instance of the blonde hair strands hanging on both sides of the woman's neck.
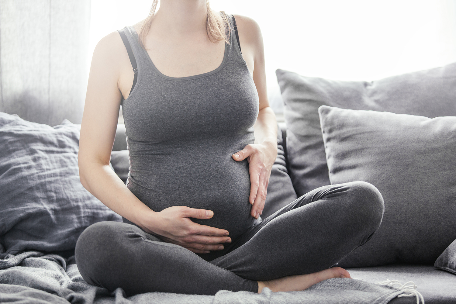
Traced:
[[[143, 25], [141, 26], [140, 33], [139, 33], [139, 39], [140, 39], [140, 44], [142, 47], [144, 47], [144, 44], [142, 42], [143, 38], [149, 33], [150, 31], [150, 25], [152, 24], [152, 19], [154, 18], [155, 15], [155, 10], [157, 9], [157, 4], [158, 0], [153, 0], [152, 5], [150, 7], [150, 12], [147, 18], [145, 19]], [[231, 22], [228, 18], [228, 15], [225, 14], [223, 11], [220, 15], [222, 20], [217, 18], [217, 16], [213, 13], [209, 6], [209, 0], [206, 0], [206, 7], [207, 7], [207, 15], [206, 15], [206, 32], [207, 32], [207, 37], [209, 37], [209, 40], [212, 42], [218, 42], [218, 41], [225, 41], [226, 43], [229, 44], [229, 37], [231, 31], [227, 31], [227, 29], [231, 29]]]

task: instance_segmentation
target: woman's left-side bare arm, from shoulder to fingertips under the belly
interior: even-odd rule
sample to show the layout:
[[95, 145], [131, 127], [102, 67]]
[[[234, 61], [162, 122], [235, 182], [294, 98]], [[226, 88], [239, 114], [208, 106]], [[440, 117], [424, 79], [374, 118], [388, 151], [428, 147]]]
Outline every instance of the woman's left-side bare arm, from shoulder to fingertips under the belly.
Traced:
[[[104, 37], [93, 52], [79, 140], [79, 177], [83, 186], [111, 210], [146, 232], [193, 252], [220, 250], [228, 231], [199, 225], [210, 210], [173, 206], [155, 212], [145, 206], [109, 167], [122, 92], [130, 92], [134, 73], [118, 32]], [[125, 81], [125, 79], [127, 79]], [[127, 97], [127, 96], [125, 96]]]

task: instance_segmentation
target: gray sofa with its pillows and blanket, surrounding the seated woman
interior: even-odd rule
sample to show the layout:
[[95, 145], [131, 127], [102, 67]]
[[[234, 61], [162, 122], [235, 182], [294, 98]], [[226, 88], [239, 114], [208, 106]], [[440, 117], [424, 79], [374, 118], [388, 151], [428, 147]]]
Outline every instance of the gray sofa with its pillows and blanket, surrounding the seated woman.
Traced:
[[[90, 224], [121, 217], [79, 182], [80, 125], [0, 113], [0, 302], [456, 303], [456, 63], [374, 82], [276, 74], [285, 122], [262, 217], [323, 185], [375, 185], [382, 224], [337, 264], [353, 280], [215, 296], [93, 287], [78, 272], [76, 240]], [[125, 139], [119, 124], [111, 166], [124, 182]]]

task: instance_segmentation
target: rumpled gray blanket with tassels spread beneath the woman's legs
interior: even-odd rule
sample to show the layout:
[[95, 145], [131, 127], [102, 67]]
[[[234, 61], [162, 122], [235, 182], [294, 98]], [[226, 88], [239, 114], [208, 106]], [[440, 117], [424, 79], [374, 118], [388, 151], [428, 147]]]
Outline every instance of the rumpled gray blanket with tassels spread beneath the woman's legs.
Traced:
[[[347, 278], [333, 278], [300, 292], [263, 289], [252, 292], [219, 291], [215, 296], [146, 293], [126, 297], [122, 289], [108, 290], [89, 285], [81, 277], [74, 256], [37, 251], [9, 255], [0, 260], [0, 302], [16, 304], [386, 304], [403, 290]], [[404, 298], [402, 298], [404, 299]], [[416, 301], [415, 298], [409, 298]]]

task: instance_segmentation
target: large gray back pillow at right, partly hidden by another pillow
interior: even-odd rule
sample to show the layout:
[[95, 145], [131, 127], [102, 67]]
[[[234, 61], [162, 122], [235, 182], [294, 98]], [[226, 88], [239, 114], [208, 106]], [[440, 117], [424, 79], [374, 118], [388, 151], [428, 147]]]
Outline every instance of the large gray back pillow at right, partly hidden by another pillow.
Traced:
[[318, 108], [456, 115], [456, 63], [378, 81], [336, 81], [277, 70], [285, 103], [290, 177], [298, 196], [329, 185]]

